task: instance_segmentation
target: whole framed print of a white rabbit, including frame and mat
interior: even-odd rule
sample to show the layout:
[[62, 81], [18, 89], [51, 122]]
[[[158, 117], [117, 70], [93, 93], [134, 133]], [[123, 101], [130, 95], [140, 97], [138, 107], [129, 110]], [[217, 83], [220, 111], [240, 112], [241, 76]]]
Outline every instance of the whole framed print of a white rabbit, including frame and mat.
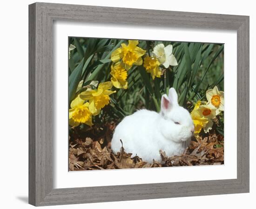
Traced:
[[242, 192], [249, 17], [29, 5], [30, 204]]

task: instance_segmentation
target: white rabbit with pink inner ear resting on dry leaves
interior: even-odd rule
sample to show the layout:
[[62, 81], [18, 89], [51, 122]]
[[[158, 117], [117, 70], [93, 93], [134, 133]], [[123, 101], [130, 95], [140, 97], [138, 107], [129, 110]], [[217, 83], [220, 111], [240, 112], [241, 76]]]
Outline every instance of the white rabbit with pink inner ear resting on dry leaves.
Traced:
[[179, 106], [174, 88], [169, 96], [162, 95], [161, 111], [139, 110], [123, 120], [115, 128], [111, 147], [114, 153], [121, 149], [152, 163], [162, 161], [160, 150], [168, 157], [182, 155], [194, 133], [193, 120], [189, 111]]

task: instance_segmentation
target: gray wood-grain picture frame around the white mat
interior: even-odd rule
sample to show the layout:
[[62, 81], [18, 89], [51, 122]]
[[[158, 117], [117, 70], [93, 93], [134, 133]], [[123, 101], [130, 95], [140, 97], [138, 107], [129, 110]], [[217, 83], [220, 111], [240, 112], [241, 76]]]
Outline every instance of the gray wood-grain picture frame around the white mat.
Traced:
[[[151, 18], [154, 16], [154, 18]], [[53, 189], [54, 20], [237, 32], [237, 178]], [[29, 203], [35, 206], [249, 192], [249, 17], [115, 7], [29, 5]]]

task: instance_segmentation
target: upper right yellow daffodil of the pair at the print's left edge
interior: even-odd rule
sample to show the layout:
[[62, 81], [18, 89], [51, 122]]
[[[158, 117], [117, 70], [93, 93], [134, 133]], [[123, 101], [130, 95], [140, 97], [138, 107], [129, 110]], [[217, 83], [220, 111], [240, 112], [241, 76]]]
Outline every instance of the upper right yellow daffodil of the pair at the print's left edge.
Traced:
[[108, 81], [101, 83], [97, 90], [83, 91], [80, 94], [80, 98], [83, 100], [89, 100], [89, 110], [93, 115], [100, 113], [101, 108], [109, 104], [109, 95], [115, 93], [115, 91], [110, 91], [113, 84]]

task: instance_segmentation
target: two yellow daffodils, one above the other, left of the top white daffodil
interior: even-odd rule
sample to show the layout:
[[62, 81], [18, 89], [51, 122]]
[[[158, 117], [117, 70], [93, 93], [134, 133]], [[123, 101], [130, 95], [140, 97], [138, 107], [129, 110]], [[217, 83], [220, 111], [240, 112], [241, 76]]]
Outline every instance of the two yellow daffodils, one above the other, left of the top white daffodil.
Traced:
[[111, 60], [113, 62], [111, 66], [111, 82], [118, 89], [127, 89], [127, 71], [133, 65], [142, 65], [142, 56], [146, 53], [141, 49], [138, 40], [129, 40], [128, 45], [121, 44], [121, 47], [117, 48], [111, 54]]

